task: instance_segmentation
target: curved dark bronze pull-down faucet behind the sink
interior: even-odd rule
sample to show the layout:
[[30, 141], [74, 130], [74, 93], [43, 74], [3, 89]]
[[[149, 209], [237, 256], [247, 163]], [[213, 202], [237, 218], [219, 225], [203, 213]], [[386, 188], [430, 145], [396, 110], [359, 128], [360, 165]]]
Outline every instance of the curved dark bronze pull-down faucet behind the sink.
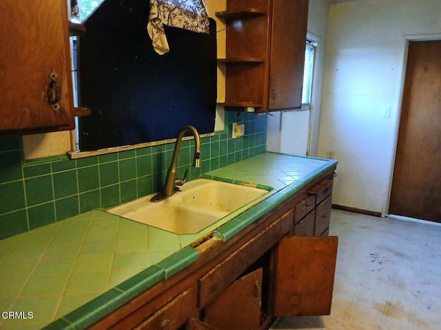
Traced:
[[199, 136], [198, 131], [190, 125], [183, 126], [181, 131], [178, 133], [178, 137], [176, 138], [176, 144], [174, 145], [172, 164], [167, 170], [167, 177], [165, 179], [164, 189], [158, 194], [154, 195], [150, 201], [162, 201], [167, 197], [170, 197], [176, 192], [176, 186], [182, 186], [184, 184], [184, 180], [176, 180], [176, 163], [178, 162], [179, 150], [181, 148], [181, 142], [184, 137], [184, 134], [187, 132], [192, 133], [194, 136], [194, 167], [201, 167], [201, 137]]

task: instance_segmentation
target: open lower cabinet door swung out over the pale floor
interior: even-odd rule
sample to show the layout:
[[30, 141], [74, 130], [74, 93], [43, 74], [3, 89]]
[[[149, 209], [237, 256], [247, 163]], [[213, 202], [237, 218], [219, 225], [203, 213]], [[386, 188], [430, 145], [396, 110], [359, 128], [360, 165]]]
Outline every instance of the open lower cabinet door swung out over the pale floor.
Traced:
[[287, 236], [278, 244], [274, 316], [331, 313], [338, 237]]

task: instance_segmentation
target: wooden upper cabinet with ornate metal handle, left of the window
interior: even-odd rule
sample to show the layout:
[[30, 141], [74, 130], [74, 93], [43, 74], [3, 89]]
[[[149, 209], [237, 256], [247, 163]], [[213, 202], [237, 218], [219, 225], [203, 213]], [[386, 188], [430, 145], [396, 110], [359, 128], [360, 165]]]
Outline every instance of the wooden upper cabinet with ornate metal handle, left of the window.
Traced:
[[67, 1], [1, 0], [0, 12], [0, 133], [73, 129]]

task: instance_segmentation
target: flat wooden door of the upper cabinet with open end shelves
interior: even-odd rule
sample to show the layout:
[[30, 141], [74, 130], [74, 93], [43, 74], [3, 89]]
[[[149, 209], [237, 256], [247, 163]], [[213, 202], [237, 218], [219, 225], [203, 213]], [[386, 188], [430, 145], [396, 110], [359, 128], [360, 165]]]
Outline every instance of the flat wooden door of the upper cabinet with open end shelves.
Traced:
[[274, 0], [269, 64], [269, 110], [302, 105], [308, 0]]

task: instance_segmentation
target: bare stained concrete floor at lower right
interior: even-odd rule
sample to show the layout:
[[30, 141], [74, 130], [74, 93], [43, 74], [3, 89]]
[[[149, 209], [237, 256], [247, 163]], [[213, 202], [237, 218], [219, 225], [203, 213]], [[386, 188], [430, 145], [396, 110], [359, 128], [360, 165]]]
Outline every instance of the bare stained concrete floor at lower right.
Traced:
[[271, 329], [441, 329], [441, 225], [332, 210], [339, 236], [330, 316]]

